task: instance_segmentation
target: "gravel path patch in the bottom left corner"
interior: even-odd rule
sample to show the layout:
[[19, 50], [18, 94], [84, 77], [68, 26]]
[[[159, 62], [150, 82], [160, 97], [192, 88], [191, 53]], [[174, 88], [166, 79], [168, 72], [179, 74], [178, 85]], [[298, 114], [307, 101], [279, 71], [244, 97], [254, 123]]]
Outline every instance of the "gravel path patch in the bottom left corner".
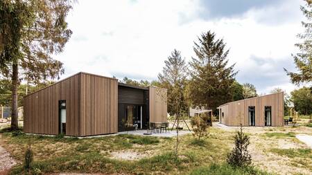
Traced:
[[[1, 134], [0, 134], [1, 138]], [[10, 156], [8, 151], [0, 145], [0, 174], [7, 172], [12, 166], [16, 165], [17, 162]]]

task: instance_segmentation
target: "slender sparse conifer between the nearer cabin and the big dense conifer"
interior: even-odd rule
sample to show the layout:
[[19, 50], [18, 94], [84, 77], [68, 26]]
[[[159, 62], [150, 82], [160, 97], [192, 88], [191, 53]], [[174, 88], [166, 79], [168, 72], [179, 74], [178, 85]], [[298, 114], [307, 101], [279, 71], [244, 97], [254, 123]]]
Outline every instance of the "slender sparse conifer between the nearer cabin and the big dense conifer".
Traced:
[[187, 111], [187, 101], [184, 99], [184, 89], [187, 81], [187, 64], [181, 57], [181, 52], [173, 50], [165, 61], [162, 73], [158, 75], [162, 87], [168, 90], [168, 113], [171, 115]]

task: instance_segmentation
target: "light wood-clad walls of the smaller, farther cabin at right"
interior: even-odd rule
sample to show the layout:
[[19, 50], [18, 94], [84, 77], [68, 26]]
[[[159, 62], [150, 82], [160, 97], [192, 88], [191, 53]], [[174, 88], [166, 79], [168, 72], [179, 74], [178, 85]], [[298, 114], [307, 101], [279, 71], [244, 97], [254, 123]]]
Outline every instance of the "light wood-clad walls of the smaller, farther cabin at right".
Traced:
[[[272, 126], [284, 125], [284, 93], [229, 102], [220, 106], [221, 122], [229, 126], [248, 126], [248, 107], [254, 106], [256, 126], [264, 126], [265, 107], [272, 107]], [[224, 113], [224, 117], [222, 117]]]

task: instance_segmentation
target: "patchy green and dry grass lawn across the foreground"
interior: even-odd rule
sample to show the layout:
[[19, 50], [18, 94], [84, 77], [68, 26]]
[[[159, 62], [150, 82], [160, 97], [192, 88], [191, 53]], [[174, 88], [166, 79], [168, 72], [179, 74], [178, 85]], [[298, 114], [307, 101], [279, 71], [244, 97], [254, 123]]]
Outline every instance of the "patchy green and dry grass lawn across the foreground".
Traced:
[[[196, 175], [312, 172], [309, 166], [312, 165], [311, 149], [307, 149], [295, 138], [297, 133], [312, 134], [311, 128], [244, 128], [251, 141], [250, 152], [254, 162], [252, 169], [233, 169], [225, 163], [226, 155], [234, 145], [235, 131], [212, 127], [209, 129], [209, 137], [201, 141], [195, 140], [191, 134], [181, 136], [178, 157], [174, 154], [175, 138], [132, 135], [78, 139], [3, 132], [0, 145], [20, 162], [11, 169], [11, 174], [24, 174], [21, 163], [29, 143], [34, 152], [33, 170], [38, 174], [96, 172]], [[116, 156], [133, 153], [135, 158], [132, 159]], [[270, 166], [273, 163], [280, 165]], [[307, 165], [304, 166], [304, 163]]]

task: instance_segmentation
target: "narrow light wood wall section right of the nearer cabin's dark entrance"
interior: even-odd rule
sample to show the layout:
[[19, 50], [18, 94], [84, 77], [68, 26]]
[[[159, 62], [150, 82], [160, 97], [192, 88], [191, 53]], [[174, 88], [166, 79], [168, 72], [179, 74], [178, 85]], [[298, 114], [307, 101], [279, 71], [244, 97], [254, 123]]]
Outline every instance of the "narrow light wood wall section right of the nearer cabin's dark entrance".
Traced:
[[167, 90], [149, 87], [150, 122], [167, 121]]

